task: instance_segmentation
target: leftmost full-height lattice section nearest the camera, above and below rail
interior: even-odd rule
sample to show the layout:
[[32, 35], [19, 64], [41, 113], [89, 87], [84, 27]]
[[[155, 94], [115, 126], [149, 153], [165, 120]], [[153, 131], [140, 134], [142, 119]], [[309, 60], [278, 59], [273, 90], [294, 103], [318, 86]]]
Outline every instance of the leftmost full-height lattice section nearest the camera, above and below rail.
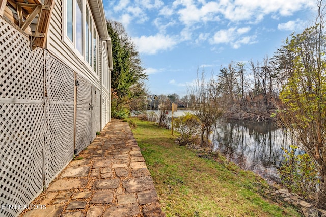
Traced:
[[[1, 205], [29, 204], [43, 189], [44, 56], [29, 43], [0, 19]], [[0, 209], [0, 216], [19, 212]]]

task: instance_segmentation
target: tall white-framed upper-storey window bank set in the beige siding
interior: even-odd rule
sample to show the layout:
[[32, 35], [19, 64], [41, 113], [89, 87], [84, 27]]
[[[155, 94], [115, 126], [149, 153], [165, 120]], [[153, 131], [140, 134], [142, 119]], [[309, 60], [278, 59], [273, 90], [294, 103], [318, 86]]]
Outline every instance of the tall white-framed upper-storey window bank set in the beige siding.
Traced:
[[98, 73], [98, 33], [86, 0], [66, 0], [64, 12], [64, 41], [80, 59]]

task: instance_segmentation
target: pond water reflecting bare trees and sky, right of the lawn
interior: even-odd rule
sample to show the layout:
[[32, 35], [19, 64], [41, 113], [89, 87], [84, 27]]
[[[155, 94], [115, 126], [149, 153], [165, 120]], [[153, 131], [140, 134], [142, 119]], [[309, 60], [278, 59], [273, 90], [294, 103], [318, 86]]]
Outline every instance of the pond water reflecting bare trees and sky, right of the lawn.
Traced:
[[212, 134], [213, 149], [245, 170], [252, 170], [270, 181], [280, 181], [277, 168], [283, 160], [282, 147], [292, 139], [273, 122], [220, 120]]

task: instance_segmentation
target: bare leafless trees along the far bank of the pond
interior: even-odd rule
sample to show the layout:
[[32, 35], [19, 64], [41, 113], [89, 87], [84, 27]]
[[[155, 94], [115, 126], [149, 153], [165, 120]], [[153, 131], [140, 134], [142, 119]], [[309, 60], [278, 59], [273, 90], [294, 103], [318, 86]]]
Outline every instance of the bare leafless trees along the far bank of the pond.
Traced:
[[[280, 49], [270, 59], [265, 57], [262, 61], [247, 64], [232, 61], [228, 66], [221, 67], [218, 74], [212, 75], [210, 89], [216, 92], [215, 97], [219, 97], [225, 117], [258, 121], [270, 118], [281, 105], [279, 95], [289, 77], [281, 67], [282, 55]], [[158, 110], [162, 105], [169, 108], [172, 102], [180, 109], [189, 109], [198, 103], [198, 96], [189, 92], [182, 97], [176, 93], [156, 95], [156, 99], [154, 96], [147, 97], [150, 110]]]

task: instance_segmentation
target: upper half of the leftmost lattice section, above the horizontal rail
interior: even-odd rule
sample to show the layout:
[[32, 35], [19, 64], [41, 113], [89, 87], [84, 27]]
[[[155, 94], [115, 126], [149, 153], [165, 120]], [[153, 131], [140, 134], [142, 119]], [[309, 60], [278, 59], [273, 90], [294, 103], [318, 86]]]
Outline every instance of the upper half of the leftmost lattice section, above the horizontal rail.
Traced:
[[43, 50], [0, 19], [0, 98], [43, 99]]

